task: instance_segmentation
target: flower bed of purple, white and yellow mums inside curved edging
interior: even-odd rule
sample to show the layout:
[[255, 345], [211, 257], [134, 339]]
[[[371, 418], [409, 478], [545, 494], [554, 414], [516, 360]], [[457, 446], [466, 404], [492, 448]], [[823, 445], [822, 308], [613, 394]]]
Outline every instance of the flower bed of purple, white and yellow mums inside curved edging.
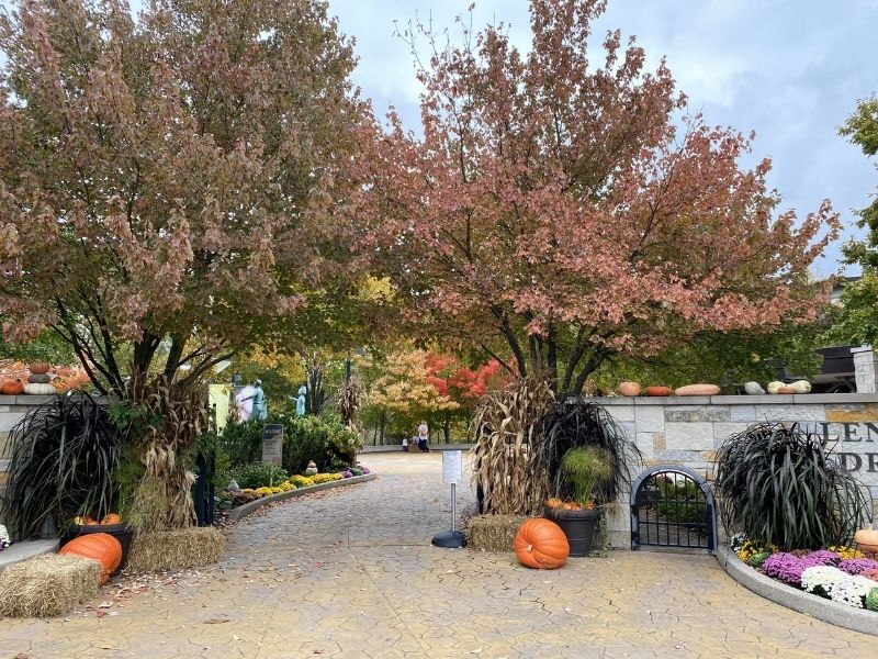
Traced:
[[853, 547], [781, 551], [739, 535], [730, 548], [772, 579], [833, 602], [878, 612], [878, 560]]

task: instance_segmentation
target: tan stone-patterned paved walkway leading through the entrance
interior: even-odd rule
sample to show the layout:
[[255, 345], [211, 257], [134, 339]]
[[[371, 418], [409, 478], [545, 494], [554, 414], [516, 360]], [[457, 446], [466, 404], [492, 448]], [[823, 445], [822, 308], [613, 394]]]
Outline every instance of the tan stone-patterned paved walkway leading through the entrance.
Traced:
[[105, 610], [0, 621], [0, 658], [878, 656], [876, 638], [762, 600], [709, 556], [615, 551], [538, 571], [435, 548], [450, 516], [440, 456], [363, 461], [378, 480], [244, 521], [222, 563], [124, 607], [108, 587]]

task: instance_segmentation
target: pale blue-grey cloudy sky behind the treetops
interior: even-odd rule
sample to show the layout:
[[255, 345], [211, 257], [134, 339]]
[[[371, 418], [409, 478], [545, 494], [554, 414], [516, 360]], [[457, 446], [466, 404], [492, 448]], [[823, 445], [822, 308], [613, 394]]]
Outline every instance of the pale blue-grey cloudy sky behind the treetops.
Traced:
[[[470, 0], [329, 0], [357, 40], [356, 82], [383, 113], [393, 103], [418, 126], [419, 87], [394, 21], [432, 16], [454, 27]], [[519, 48], [530, 44], [527, 0], [476, 0], [474, 26], [504, 21]], [[665, 56], [690, 108], [710, 124], [756, 132], [754, 158], [770, 156], [781, 209], [800, 215], [824, 198], [842, 213], [845, 239], [859, 234], [854, 209], [868, 204], [878, 172], [837, 127], [858, 99], [878, 93], [878, 0], [610, 0], [596, 30], [634, 34], [653, 65]], [[838, 269], [840, 244], [818, 264]]]

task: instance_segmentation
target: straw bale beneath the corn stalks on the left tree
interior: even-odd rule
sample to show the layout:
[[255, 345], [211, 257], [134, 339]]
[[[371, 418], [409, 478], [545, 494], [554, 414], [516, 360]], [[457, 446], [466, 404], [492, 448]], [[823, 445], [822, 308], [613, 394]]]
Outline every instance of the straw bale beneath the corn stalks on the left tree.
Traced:
[[127, 571], [159, 572], [214, 563], [225, 543], [225, 536], [212, 527], [143, 533], [132, 540]]

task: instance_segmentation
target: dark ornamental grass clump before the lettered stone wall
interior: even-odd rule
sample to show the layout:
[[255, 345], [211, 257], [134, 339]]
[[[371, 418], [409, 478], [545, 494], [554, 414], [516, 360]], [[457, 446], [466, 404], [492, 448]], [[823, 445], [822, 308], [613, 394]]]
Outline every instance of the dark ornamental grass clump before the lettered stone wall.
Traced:
[[783, 547], [849, 543], [871, 514], [862, 484], [796, 424], [756, 424], [725, 439], [714, 488], [729, 534]]

